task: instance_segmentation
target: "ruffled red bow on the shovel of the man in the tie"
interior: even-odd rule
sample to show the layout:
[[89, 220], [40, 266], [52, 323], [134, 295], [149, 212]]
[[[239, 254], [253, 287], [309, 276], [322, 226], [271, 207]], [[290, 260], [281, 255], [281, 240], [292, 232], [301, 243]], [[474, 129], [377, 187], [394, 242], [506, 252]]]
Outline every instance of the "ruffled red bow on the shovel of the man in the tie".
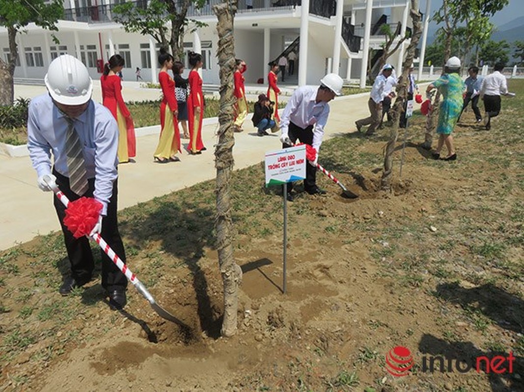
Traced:
[[102, 211], [102, 203], [93, 198], [81, 197], [70, 201], [65, 209], [64, 225], [74, 238], [89, 235]]

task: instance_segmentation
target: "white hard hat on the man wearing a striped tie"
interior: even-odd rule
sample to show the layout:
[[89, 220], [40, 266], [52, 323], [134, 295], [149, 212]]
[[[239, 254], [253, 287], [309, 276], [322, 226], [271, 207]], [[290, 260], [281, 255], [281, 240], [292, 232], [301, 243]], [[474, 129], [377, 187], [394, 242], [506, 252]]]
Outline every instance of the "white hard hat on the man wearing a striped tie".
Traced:
[[83, 105], [91, 99], [93, 80], [88, 68], [69, 54], [54, 59], [43, 80], [51, 98], [63, 105]]

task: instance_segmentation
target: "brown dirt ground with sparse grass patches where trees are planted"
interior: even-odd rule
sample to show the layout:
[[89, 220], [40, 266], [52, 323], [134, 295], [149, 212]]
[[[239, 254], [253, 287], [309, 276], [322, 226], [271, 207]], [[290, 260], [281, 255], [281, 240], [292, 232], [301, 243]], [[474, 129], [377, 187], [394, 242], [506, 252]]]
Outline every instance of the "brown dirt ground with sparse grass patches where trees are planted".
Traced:
[[[524, 138], [520, 103], [503, 105], [490, 132], [465, 113], [451, 163], [417, 147], [423, 119], [414, 118], [391, 193], [379, 191], [388, 127], [326, 142], [323, 164], [360, 197], [342, 198], [318, 174], [325, 197], [288, 203], [286, 294], [281, 197], [253, 186], [261, 166], [236, 172], [243, 282], [232, 338], [220, 337], [212, 182], [120, 216], [129, 268], [183, 325], [159, 318], [133, 287], [125, 311], [110, 310], [99, 278], [61, 297], [59, 234], [4, 252], [0, 390], [524, 390]], [[414, 359], [406, 376], [386, 370], [397, 346]], [[423, 368], [437, 355], [452, 371]], [[455, 367], [497, 355], [489, 373]]]

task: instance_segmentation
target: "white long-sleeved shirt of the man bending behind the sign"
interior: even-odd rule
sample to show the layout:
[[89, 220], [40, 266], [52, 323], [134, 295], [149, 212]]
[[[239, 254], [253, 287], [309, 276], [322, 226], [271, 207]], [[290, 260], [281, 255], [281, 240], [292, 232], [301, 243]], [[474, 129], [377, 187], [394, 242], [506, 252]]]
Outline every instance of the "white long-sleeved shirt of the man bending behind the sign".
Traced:
[[316, 102], [318, 89], [318, 86], [302, 86], [297, 88], [291, 96], [291, 99], [289, 99], [280, 118], [282, 135], [288, 134], [290, 122], [303, 129], [308, 128], [309, 125], [313, 125], [312, 146], [317, 152], [322, 144], [324, 126], [326, 122], [328, 122], [330, 110], [328, 102]]

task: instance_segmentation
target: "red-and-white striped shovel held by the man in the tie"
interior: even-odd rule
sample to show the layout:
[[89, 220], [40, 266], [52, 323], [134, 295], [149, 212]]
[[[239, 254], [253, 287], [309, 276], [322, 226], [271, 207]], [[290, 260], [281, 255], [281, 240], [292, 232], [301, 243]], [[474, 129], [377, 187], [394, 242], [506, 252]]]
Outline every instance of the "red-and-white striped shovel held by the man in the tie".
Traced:
[[[51, 177], [45, 176], [43, 178], [44, 181], [46, 181], [49, 188], [51, 188], [56, 195], [56, 197], [62, 202], [63, 205], [67, 208], [69, 204], [69, 199], [65, 194], [62, 193], [62, 191], [58, 188], [56, 183], [51, 180]], [[100, 236], [99, 233], [96, 233], [93, 236], [88, 236], [92, 240], [94, 240], [97, 244], [99, 244], [100, 248], [106, 253], [106, 255], [115, 263], [115, 265], [118, 267], [119, 270], [122, 271], [122, 273], [126, 276], [127, 280], [135, 286], [136, 290], [144, 296], [144, 298], [149, 301], [149, 304], [151, 304], [151, 308], [155, 310], [155, 312], [162, 318], [165, 318], [166, 320], [175, 322], [178, 325], [187, 327], [181, 320], [174, 317], [172, 314], [170, 314], [166, 309], [163, 309], [160, 305], [158, 305], [155, 301], [155, 298], [147, 291], [146, 287], [142, 282], [138, 280], [136, 275], [131, 272], [126, 264], [121, 260], [121, 258], [118, 257], [118, 255], [114, 252], [113, 249], [109, 245], [107, 245], [106, 241]]]

